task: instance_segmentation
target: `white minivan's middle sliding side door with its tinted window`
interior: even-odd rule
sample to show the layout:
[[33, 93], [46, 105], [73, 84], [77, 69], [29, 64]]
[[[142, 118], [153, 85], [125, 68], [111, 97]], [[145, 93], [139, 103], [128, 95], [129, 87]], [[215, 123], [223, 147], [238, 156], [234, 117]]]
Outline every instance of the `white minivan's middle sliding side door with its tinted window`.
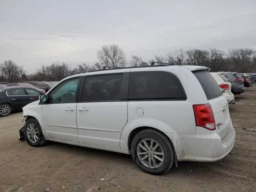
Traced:
[[87, 76], [77, 104], [81, 144], [120, 149], [127, 116], [128, 73]]

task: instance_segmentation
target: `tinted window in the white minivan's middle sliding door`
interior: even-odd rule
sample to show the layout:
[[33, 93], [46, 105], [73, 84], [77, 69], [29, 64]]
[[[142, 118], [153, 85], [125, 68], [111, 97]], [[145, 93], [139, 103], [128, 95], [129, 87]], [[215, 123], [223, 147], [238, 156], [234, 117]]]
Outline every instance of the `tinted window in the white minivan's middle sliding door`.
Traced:
[[86, 77], [82, 101], [114, 101], [121, 98], [122, 74]]

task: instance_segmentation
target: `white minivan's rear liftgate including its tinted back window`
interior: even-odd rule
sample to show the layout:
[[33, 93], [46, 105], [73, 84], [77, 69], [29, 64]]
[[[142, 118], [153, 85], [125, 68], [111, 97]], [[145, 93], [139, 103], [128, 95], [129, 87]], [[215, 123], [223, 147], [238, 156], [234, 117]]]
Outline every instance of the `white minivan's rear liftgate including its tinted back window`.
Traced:
[[222, 95], [221, 88], [207, 70], [196, 70], [192, 72], [200, 82], [208, 102], [212, 107], [216, 132], [222, 139], [226, 136], [231, 122], [226, 97]]

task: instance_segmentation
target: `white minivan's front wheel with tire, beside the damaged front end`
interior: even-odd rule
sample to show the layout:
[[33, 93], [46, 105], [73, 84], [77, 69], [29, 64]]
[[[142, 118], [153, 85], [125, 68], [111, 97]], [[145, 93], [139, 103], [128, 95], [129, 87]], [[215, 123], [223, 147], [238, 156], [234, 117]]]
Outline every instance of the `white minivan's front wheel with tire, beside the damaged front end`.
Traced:
[[42, 133], [41, 126], [35, 118], [30, 118], [26, 121], [24, 135], [28, 144], [33, 147], [42, 146], [47, 142]]

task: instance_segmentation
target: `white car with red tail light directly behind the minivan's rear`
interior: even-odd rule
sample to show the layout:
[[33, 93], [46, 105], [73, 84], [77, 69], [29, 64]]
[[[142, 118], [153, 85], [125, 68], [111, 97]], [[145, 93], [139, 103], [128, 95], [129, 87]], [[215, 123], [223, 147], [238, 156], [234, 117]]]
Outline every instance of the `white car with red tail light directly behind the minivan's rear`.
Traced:
[[231, 92], [231, 82], [223, 75], [223, 72], [210, 72], [220, 88], [223, 90], [223, 95], [227, 98], [229, 104], [235, 104], [234, 94]]

